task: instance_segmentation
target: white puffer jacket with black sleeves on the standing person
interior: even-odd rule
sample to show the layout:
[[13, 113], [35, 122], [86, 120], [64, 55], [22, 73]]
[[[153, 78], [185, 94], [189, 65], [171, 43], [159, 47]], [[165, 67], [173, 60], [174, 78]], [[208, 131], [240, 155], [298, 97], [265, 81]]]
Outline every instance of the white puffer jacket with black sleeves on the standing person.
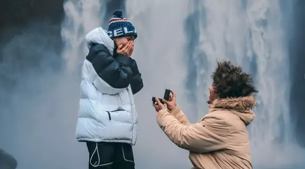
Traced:
[[[82, 67], [77, 140], [134, 145], [137, 140], [137, 112], [132, 82], [126, 81], [135, 77], [135, 73], [140, 76], [140, 73], [132, 72], [128, 57], [113, 57], [114, 41], [104, 29], [92, 30], [86, 35], [86, 41], [89, 54]], [[124, 79], [116, 81], [119, 78]], [[142, 87], [141, 83], [139, 90]]]

